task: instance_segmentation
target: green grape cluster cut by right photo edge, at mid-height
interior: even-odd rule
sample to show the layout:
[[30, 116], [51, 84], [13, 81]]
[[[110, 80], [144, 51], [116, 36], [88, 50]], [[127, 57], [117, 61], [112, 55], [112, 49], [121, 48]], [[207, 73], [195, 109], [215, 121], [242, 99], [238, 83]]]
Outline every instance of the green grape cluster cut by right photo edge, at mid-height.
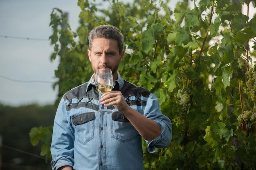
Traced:
[[245, 93], [249, 93], [251, 95], [252, 101], [256, 101], [255, 94], [256, 94], [256, 72], [253, 68], [249, 68], [249, 70], [245, 73], [246, 75], [246, 87], [244, 87]]

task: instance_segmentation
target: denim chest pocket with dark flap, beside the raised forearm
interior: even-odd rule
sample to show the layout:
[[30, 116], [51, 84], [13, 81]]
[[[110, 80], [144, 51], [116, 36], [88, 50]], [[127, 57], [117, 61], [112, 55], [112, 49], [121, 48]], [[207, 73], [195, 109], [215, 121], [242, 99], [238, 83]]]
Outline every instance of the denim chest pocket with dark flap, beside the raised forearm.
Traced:
[[111, 137], [121, 142], [131, 141], [134, 137], [135, 128], [127, 117], [119, 112], [112, 113]]

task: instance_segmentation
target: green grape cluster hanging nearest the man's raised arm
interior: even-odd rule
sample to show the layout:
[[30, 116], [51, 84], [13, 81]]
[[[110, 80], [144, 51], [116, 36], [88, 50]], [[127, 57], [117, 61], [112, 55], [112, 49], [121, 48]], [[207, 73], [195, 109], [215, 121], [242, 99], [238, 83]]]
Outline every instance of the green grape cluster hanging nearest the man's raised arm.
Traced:
[[191, 90], [187, 86], [184, 86], [182, 89], [178, 90], [177, 93], [177, 108], [180, 112], [180, 117], [185, 118], [186, 114], [189, 112], [189, 108], [191, 107]]

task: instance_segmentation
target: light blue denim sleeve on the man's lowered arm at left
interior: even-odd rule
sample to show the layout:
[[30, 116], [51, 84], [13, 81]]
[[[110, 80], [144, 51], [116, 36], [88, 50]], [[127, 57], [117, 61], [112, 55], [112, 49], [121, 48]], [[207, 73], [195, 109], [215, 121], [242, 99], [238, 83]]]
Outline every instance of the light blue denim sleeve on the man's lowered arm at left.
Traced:
[[62, 166], [74, 165], [74, 130], [68, 119], [65, 101], [63, 98], [57, 108], [51, 144], [53, 170]]

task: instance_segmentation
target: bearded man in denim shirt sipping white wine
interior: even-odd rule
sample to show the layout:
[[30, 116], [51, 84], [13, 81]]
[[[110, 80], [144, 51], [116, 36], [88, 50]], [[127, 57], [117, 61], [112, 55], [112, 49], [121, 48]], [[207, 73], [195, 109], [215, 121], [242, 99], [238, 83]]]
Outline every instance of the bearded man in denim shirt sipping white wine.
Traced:
[[[148, 143], [149, 152], [168, 147], [171, 121], [161, 113], [155, 95], [118, 73], [124, 57], [124, 38], [119, 29], [98, 26], [88, 39], [94, 75], [98, 68], [110, 68], [115, 85], [112, 91], [100, 95], [92, 75], [89, 82], [65, 93], [54, 120], [52, 169], [143, 170], [141, 137]], [[103, 105], [114, 113], [98, 113]]]

